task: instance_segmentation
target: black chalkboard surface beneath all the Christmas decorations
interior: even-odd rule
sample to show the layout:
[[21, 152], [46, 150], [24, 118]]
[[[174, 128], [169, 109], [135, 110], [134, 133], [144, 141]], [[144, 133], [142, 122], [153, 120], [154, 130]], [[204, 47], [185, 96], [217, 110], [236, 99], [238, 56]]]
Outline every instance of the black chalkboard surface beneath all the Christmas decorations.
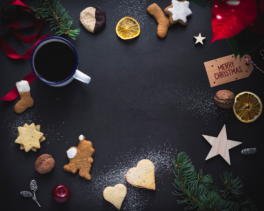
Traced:
[[[1, 8], [7, 2], [1, 1]], [[202, 168], [205, 174], [213, 176], [220, 189], [223, 171], [240, 176], [244, 189], [261, 210], [263, 114], [253, 123], [242, 123], [232, 109], [216, 107], [213, 96], [218, 90], [228, 89], [235, 94], [251, 91], [264, 100], [263, 73], [254, 69], [248, 78], [210, 87], [203, 63], [233, 54], [226, 40], [210, 44], [211, 8], [191, 4], [193, 15], [187, 25], [175, 24], [164, 39], [159, 39], [157, 23], [146, 9], [152, 3], [164, 9], [169, 0], [61, 2], [74, 20], [72, 28], [81, 28], [76, 40], [62, 37], [76, 47], [79, 70], [92, 80], [88, 85], [73, 80], [56, 88], [36, 79], [30, 85], [34, 106], [22, 114], [13, 110], [19, 98], [0, 102], [1, 203], [8, 204], [8, 210], [116, 210], [103, 199], [102, 192], [106, 186], [123, 183], [128, 193], [121, 210], [183, 210], [186, 205], [178, 204], [181, 198], [171, 193], [175, 188], [170, 159], [184, 151], [197, 170]], [[79, 22], [80, 12], [89, 6], [99, 6], [106, 13], [107, 23], [101, 33], [88, 32]], [[7, 8], [7, 13], [14, 8]], [[140, 24], [140, 35], [135, 39], [121, 40], [115, 33], [117, 22], [125, 16]], [[26, 13], [19, 18], [23, 19], [19, 21], [21, 25], [32, 21]], [[10, 24], [10, 20], [0, 20], [1, 28]], [[50, 29], [48, 21], [43, 21], [39, 37], [53, 35]], [[35, 32], [33, 27], [22, 30], [21, 35]], [[195, 45], [193, 36], [200, 32], [206, 37], [204, 45]], [[20, 55], [33, 45], [23, 44], [10, 29], [1, 32], [1, 36]], [[264, 69], [260, 49], [250, 55]], [[10, 59], [2, 50], [0, 56], [2, 97], [31, 68], [28, 60]], [[37, 152], [26, 153], [14, 141], [17, 127], [32, 122], [41, 125], [46, 140]], [[243, 142], [230, 150], [231, 166], [220, 155], [205, 161], [211, 146], [202, 134], [218, 136], [224, 124], [229, 140]], [[66, 150], [78, 145], [81, 134], [95, 148], [90, 181], [63, 170], [63, 165], [68, 164]], [[256, 147], [258, 152], [242, 155], [241, 150], [249, 147]], [[34, 169], [41, 154], [55, 159], [54, 169], [43, 175]], [[125, 171], [144, 158], [153, 159], [157, 166], [155, 191], [134, 188], [124, 179]], [[30, 190], [32, 179], [38, 184], [40, 208], [32, 199], [20, 195], [20, 191]], [[57, 184], [65, 184], [71, 191], [65, 204], [57, 204], [51, 198], [51, 189]]]

